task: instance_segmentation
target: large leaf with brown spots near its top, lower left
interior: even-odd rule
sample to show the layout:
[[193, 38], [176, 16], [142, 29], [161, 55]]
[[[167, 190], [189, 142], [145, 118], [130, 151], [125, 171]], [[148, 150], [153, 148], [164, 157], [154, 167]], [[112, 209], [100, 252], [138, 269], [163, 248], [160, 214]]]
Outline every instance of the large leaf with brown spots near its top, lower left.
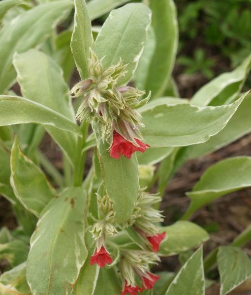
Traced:
[[42, 211], [31, 236], [27, 280], [32, 294], [70, 294], [87, 258], [83, 188], [66, 188]]

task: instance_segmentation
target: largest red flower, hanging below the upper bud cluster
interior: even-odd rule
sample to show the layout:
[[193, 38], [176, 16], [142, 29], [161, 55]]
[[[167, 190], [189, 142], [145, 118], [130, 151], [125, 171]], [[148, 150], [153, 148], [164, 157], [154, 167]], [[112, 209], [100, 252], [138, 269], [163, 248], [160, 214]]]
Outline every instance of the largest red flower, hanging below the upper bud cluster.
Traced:
[[131, 142], [125, 140], [118, 132], [114, 131], [110, 156], [115, 159], [120, 159], [121, 156], [126, 156], [126, 158], [129, 159], [135, 151], [138, 150], [144, 152], [147, 147], [150, 147], [136, 138], [135, 141], [139, 147], [134, 146]]

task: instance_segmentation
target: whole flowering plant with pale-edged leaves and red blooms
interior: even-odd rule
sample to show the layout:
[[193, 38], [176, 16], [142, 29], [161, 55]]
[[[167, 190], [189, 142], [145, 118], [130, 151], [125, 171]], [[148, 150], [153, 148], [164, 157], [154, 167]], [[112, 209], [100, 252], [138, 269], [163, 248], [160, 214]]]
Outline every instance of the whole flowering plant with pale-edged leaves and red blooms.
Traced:
[[[176, 223], [162, 226], [159, 209], [187, 159], [250, 132], [251, 97], [241, 90], [251, 56], [190, 101], [177, 98], [173, 1], [112, 10], [125, 2], [0, 2], [0, 194], [18, 221], [12, 232], [0, 231], [0, 258], [8, 262], [2, 295], [203, 295], [216, 266], [225, 295], [251, 276], [241, 250], [251, 228], [203, 266], [209, 235], [188, 221], [251, 185], [250, 157], [209, 168]], [[92, 27], [110, 10], [102, 27]], [[59, 23], [67, 28], [60, 33]], [[69, 89], [75, 65], [80, 82]], [[39, 149], [45, 133], [61, 151], [61, 171]], [[156, 273], [172, 255], [187, 258], [178, 272]]]

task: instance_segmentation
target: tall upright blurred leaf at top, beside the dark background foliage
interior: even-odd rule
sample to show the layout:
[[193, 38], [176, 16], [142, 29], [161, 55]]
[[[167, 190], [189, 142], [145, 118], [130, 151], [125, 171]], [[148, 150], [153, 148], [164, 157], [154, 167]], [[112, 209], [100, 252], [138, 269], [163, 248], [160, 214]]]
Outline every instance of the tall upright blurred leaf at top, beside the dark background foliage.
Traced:
[[154, 98], [164, 93], [172, 73], [178, 44], [178, 23], [173, 0], [150, 0], [149, 3], [153, 11], [156, 49], [144, 89], [151, 90]]

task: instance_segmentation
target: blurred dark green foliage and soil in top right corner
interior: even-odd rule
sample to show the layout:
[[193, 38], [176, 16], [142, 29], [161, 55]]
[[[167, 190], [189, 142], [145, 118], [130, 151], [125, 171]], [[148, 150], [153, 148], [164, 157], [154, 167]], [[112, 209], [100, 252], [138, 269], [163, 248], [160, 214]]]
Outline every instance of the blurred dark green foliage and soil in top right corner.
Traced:
[[251, 0], [175, 3], [180, 29], [178, 63], [187, 74], [200, 71], [211, 79], [219, 56], [233, 68], [251, 52]]

